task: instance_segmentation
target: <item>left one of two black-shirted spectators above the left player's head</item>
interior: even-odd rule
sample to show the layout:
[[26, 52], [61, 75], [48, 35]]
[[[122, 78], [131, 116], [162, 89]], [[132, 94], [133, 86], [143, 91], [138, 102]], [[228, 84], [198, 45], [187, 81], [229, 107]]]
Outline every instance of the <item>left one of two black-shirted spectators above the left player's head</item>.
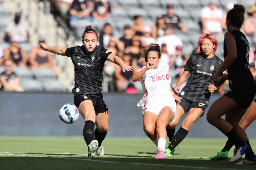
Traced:
[[78, 19], [91, 21], [90, 10], [87, 8], [86, 0], [74, 0], [69, 9], [70, 25], [74, 26]]

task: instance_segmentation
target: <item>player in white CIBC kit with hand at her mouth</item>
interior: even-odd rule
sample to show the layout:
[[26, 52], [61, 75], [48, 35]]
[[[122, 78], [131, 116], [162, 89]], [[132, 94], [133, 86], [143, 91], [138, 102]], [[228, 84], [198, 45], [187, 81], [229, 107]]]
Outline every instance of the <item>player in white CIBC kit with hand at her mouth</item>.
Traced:
[[175, 120], [176, 102], [180, 97], [174, 94], [171, 77], [168, 74], [169, 66], [159, 63], [161, 51], [158, 44], [149, 44], [142, 51], [139, 62], [145, 61], [133, 75], [132, 81], [141, 81], [144, 95], [138, 102], [144, 110], [143, 129], [146, 135], [157, 145], [156, 159], [165, 159], [166, 125]]

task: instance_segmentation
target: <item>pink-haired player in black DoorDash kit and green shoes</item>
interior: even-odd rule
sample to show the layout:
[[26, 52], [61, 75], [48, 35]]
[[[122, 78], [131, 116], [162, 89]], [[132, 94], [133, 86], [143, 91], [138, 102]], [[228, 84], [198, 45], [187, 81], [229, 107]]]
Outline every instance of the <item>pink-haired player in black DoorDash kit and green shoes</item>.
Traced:
[[[208, 105], [211, 92], [217, 88], [213, 85], [213, 77], [222, 64], [222, 60], [214, 55], [218, 47], [218, 41], [213, 34], [203, 34], [199, 37], [196, 55], [189, 58], [185, 70], [178, 80], [175, 92], [178, 93], [180, 85], [191, 75], [186, 86], [181, 90], [181, 102], [176, 108], [176, 120], [167, 125], [166, 131], [169, 138], [169, 146], [165, 150], [166, 156], [172, 156], [174, 148], [186, 137], [191, 126], [203, 116]], [[181, 128], [175, 133], [175, 126], [181, 117], [187, 113], [181, 124]]]

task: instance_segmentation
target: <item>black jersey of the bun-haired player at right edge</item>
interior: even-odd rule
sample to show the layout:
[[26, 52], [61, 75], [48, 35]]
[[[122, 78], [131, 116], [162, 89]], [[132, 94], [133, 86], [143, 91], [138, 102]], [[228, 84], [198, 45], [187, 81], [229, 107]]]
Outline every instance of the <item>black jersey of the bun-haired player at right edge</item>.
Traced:
[[[237, 58], [227, 68], [229, 88], [256, 88], [255, 80], [249, 70], [249, 43], [245, 35], [239, 30], [229, 31], [236, 40]], [[224, 58], [227, 56], [227, 46], [224, 41]]]

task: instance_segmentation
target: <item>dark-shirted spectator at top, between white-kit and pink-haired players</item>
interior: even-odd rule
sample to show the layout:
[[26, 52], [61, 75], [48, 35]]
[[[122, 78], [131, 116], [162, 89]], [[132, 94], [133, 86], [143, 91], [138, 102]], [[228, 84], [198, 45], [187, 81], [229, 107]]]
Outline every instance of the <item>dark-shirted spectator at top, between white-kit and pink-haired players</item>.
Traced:
[[172, 27], [175, 32], [187, 33], [187, 28], [181, 22], [180, 17], [174, 14], [173, 4], [167, 5], [167, 14], [163, 15], [163, 18], [167, 26]]

